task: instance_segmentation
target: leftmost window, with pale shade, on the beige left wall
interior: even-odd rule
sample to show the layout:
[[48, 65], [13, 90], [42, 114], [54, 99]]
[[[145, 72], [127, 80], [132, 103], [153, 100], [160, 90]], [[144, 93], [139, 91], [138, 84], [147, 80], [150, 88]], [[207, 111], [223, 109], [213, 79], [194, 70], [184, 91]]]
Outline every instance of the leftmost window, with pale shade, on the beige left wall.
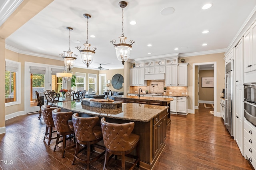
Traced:
[[5, 60], [5, 106], [20, 104], [20, 63]]

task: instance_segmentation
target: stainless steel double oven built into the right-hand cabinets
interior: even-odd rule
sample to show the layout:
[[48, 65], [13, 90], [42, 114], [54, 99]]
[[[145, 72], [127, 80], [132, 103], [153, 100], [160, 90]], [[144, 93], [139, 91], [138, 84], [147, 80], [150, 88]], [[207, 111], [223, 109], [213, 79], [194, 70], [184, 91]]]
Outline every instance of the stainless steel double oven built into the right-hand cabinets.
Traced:
[[244, 83], [244, 117], [256, 126], [256, 83]]

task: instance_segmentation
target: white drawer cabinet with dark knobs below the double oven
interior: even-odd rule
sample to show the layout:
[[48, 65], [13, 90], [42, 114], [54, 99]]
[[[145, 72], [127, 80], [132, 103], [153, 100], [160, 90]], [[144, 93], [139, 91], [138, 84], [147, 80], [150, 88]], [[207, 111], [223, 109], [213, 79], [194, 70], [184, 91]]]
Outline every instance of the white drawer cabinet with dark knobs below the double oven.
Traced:
[[256, 168], [256, 127], [244, 120], [244, 157]]

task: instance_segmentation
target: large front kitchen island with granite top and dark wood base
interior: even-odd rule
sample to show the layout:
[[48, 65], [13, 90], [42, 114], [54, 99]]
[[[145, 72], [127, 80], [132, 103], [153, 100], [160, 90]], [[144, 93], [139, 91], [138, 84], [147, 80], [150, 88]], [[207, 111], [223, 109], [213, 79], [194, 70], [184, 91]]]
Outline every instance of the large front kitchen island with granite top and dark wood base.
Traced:
[[[120, 108], [105, 109], [90, 107], [76, 101], [58, 102], [54, 105], [60, 107], [62, 111], [98, 116], [100, 119], [105, 117], [106, 121], [111, 123], [133, 121], [135, 126], [132, 132], [140, 136], [140, 166], [143, 168], [152, 169], [166, 146], [166, 114], [168, 109], [166, 106], [123, 103]], [[136, 150], [132, 154], [135, 155]]]

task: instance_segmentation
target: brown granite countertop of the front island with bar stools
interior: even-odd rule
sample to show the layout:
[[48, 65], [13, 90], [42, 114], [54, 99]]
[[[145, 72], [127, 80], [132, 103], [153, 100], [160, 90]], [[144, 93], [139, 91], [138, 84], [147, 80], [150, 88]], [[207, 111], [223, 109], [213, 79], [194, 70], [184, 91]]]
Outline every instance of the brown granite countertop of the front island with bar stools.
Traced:
[[149, 122], [167, 109], [166, 106], [144, 105], [139, 103], [124, 103], [118, 109], [104, 109], [81, 105], [81, 102], [65, 101], [54, 103], [55, 106], [72, 111], [74, 113], [85, 113], [87, 115], [122, 119], [128, 121]]

